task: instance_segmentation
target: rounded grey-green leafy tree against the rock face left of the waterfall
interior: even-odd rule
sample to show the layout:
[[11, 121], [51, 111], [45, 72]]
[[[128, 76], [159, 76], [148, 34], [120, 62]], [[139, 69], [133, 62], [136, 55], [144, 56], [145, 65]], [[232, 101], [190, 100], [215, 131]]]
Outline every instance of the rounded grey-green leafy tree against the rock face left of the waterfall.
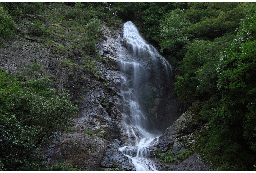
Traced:
[[77, 106], [70, 102], [70, 95], [63, 90], [58, 93], [49, 88], [49, 79], [32, 79], [26, 82], [24, 88], [8, 103], [23, 125], [37, 129], [36, 145], [48, 142], [53, 133], [63, 130], [78, 111]]

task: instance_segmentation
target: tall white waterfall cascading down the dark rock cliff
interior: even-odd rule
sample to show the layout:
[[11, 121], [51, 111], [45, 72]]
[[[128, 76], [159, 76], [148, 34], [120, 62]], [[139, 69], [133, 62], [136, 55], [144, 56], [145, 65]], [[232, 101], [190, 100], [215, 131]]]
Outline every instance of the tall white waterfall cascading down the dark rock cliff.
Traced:
[[[124, 102], [121, 114], [128, 146], [119, 150], [132, 159], [136, 171], [157, 171], [152, 162], [154, 153], [151, 148], [158, 142], [160, 133], [142, 111], [139, 97], [143, 86], [152, 78], [157, 80], [157, 85], [170, 82], [172, 67], [153, 46], [146, 43], [130, 21], [124, 24], [122, 40], [123, 46], [118, 49], [121, 95]], [[162, 75], [165, 75], [164, 81], [161, 81]]]

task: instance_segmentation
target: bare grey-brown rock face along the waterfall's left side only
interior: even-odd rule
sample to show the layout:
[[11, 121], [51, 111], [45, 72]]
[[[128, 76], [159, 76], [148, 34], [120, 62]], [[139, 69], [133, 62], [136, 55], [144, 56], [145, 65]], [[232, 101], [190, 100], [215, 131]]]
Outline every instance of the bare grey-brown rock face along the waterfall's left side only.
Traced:
[[[118, 37], [117, 34], [109, 34], [109, 36], [116, 39]], [[109, 36], [105, 36], [104, 39], [110, 40]], [[6, 46], [0, 49], [0, 64], [3, 70], [17, 74], [30, 70], [31, 63], [38, 63], [43, 70], [39, 75], [51, 74], [54, 87], [58, 90], [69, 90], [73, 95], [73, 102], [79, 106], [77, 118], [71, 124], [75, 130], [57, 133], [59, 136], [55, 135], [53, 145], [44, 149], [45, 161], [48, 164], [65, 162], [86, 171], [98, 171], [107, 167], [102, 166], [102, 159], [108, 149], [113, 149], [111, 141], [126, 139], [126, 136], [122, 137], [120, 131], [122, 118], [117, 106], [121, 103], [118, 97], [119, 74], [116, 71], [118, 66], [115, 53], [112, 52], [113, 56], [110, 58], [105, 57], [108, 59], [105, 66], [96, 62], [95, 66], [99, 71], [99, 79], [96, 80], [84, 72], [74, 72], [73, 69], [63, 66], [60, 59], [67, 58], [66, 55], [60, 57], [51, 53], [50, 48], [44, 48], [40, 42], [29, 36], [24, 38], [17, 34], [10, 40], [4, 40], [4, 45]], [[111, 51], [110, 49], [109, 53]], [[80, 62], [80, 57], [72, 58], [73, 61]], [[123, 157], [123, 160], [128, 162], [127, 166], [118, 166], [118, 168], [132, 170], [133, 165], [129, 164], [129, 159], [120, 152], [117, 154], [119, 154], [118, 160]], [[118, 160], [113, 162], [116, 163]]]

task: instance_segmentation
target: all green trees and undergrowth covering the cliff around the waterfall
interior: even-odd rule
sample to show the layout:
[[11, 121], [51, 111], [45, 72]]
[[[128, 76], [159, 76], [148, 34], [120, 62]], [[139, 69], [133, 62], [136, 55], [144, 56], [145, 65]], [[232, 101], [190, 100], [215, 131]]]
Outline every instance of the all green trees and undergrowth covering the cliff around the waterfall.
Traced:
[[[131, 20], [175, 67], [177, 96], [208, 123], [198, 152], [220, 170], [245, 171], [256, 164], [255, 11], [254, 2], [1, 2], [0, 37], [16, 32], [50, 48], [70, 75], [98, 78], [101, 21], [114, 29]], [[0, 170], [33, 170], [36, 147], [77, 111], [32, 67], [0, 73]]]

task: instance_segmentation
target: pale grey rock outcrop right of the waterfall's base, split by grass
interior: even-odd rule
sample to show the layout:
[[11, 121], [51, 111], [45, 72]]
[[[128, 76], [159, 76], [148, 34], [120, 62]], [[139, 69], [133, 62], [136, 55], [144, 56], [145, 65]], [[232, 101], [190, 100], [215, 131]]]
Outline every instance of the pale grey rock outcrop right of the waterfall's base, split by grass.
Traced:
[[[200, 123], [189, 111], [183, 113], [164, 134], [159, 137], [156, 150], [166, 152], [171, 150], [173, 154], [187, 149], [196, 143], [196, 133], [203, 128], [205, 124]], [[203, 158], [195, 152], [187, 159], [173, 163], [170, 171], [211, 171], [211, 165], [204, 162]]]

